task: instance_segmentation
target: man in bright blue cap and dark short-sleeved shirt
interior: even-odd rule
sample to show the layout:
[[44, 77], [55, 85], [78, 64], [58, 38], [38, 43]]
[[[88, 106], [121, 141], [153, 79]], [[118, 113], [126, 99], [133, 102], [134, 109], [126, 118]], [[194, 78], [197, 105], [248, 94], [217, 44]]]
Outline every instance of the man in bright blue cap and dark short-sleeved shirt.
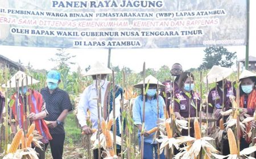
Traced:
[[49, 114], [44, 120], [48, 121], [49, 132], [52, 136], [52, 140], [49, 141], [52, 157], [53, 159], [61, 159], [65, 140], [64, 120], [68, 112], [72, 110], [72, 104], [68, 93], [58, 87], [61, 82], [59, 72], [50, 70], [46, 82], [47, 87], [41, 90], [41, 94]]

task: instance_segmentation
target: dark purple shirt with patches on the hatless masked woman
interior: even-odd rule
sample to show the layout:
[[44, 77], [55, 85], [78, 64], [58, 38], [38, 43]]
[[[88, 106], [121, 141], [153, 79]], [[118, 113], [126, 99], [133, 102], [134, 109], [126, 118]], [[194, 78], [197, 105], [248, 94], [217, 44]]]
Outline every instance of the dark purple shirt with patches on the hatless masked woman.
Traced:
[[[177, 102], [179, 101], [179, 102]], [[197, 110], [195, 107], [197, 107]], [[191, 91], [191, 104], [189, 104], [189, 97], [183, 91], [177, 91], [175, 93], [175, 101], [174, 101], [174, 112], [179, 112], [183, 118], [188, 118], [189, 115], [189, 107], [190, 107], [190, 117], [196, 116], [196, 111], [200, 111], [200, 97], [199, 94]], [[199, 113], [197, 114], [199, 116]], [[190, 136], [194, 135], [194, 126], [193, 122], [190, 123]], [[188, 130], [183, 129], [182, 135], [187, 136]]]

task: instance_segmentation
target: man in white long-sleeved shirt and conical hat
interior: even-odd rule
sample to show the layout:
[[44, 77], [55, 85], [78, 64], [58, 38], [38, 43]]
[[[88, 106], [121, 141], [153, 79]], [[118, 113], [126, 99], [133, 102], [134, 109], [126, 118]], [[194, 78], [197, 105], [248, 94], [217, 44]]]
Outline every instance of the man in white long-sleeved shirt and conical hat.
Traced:
[[[117, 135], [121, 136], [121, 104], [122, 98], [122, 87], [115, 85], [112, 82], [106, 80], [106, 76], [112, 74], [112, 70], [96, 62], [92, 68], [85, 74], [85, 76], [92, 76], [93, 83], [86, 87], [84, 92], [81, 94], [81, 98], [77, 110], [77, 119], [82, 127], [82, 131], [86, 135], [92, 134], [92, 128], [98, 129], [97, 120], [108, 120], [113, 119], [113, 100], [115, 100], [115, 123], [117, 126]], [[98, 91], [97, 87], [100, 86]], [[115, 95], [113, 97], [113, 87], [115, 89]], [[101, 94], [101, 106], [100, 116], [98, 116], [98, 95]], [[90, 122], [92, 122], [92, 128], [88, 127], [86, 123], [87, 111], [90, 111]], [[103, 110], [103, 112], [101, 112]], [[101, 116], [103, 114], [103, 116]], [[112, 128], [113, 130], [113, 125]], [[101, 151], [102, 153], [102, 151]], [[117, 145], [117, 154], [121, 153], [121, 147]], [[102, 155], [101, 155], [102, 156]], [[103, 155], [104, 156], [104, 155]], [[98, 149], [93, 150], [94, 159], [98, 158]]]

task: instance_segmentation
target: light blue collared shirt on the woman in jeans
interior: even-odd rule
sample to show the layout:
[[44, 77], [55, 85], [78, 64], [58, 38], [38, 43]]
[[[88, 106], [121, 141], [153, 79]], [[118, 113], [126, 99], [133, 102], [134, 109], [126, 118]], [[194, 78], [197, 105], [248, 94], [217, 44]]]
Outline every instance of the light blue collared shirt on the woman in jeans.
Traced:
[[[164, 118], [164, 111], [163, 107], [166, 105], [164, 104], [164, 100], [161, 96], [159, 96], [159, 118]], [[134, 100], [133, 104], [133, 120], [134, 124], [142, 125], [142, 118], [143, 118], [143, 99], [142, 95], [139, 95]], [[158, 120], [158, 108], [157, 108], [157, 101], [156, 99], [149, 100], [147, 99], [145, 102], [145, 130], [148, 131], [157, 126], [156, 122]], [[138, 136], [140, 136], [140, 132]], [[144, 137], [144, 142], [152, 143], [154, 133], [150, 136]]]

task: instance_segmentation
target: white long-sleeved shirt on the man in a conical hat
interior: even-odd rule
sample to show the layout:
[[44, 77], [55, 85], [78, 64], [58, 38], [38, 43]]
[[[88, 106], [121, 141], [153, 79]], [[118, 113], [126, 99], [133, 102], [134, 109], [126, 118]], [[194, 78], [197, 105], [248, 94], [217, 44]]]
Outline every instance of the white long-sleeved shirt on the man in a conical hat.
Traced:
[[[104, 106], [104, 98], [106, 89], [108, 88], [109, 81], [105, 81], [104, 84], [101, 86], [101, 108], [100, 108], [100, 119], [101, 119], [101, 110]], [[115, 98], [115, 119], [120, 117], [120, 102], [119, 99], [121, 99], [121, 95], [118, 95], [117, 98]], [[98, 106], [97, 106], [97, 90], [96, 90], [96, 84], [93, 83], [92, 85], [89, 85], [86, 87], [84, 92], [81, 94], [79, 105], [77, 107], [77, 119], [79, 120], [79, 124], [81, 127], [83, 127], [86, 124], [86, 116], [87, 116], [87, 110], [90, 111], [90, 121], [92, 122], [93, 128], [98, 128]], [[103, 110], [102, 110], [103, 111]], [[112, 117], [112, 112], [110, 112], [109, 118]], [[118, 118], [120, 119], [120, 118]], [[121, 122], [119, 122], [121, 124]], [[121, 128], [121, 127], [120, 127]]]

